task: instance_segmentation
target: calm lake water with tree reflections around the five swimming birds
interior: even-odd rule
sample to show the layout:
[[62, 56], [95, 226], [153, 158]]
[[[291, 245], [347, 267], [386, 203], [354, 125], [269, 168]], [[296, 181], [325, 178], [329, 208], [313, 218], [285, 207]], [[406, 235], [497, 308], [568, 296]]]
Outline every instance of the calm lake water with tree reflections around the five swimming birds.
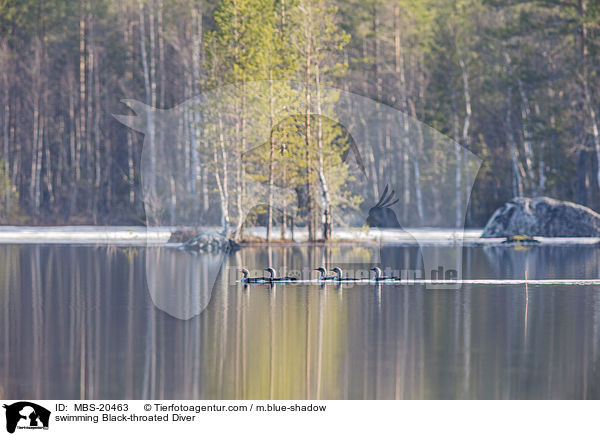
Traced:
[[[165, 248], [2, 245], [0, 398], [600, 398], [598, 286], [233, 280], [239, 266], [348, 265], [368, 261], [369, 250], [244, 248], [219, 269], [220, 258]], [[387, 250], [406, 266], [419, 254]], [[465, 248], [462, 273], [598, 278], [599, 255]], [[214, 287], [196, 295], [211, 275]], [[156, 283], [173, 289], [153, 294]], [[172, 316], [181, 298], [186, 320]]]

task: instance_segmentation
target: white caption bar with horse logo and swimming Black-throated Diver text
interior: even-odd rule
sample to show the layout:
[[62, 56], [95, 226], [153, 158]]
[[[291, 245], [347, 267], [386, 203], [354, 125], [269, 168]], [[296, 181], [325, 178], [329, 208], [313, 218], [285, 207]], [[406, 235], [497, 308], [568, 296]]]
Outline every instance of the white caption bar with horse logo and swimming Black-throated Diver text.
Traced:
[[[5, 400], [20, 436], [131, 434], [598, 434], [598, 401]], [[110, 433], [109, 433], [110, 432]]]

